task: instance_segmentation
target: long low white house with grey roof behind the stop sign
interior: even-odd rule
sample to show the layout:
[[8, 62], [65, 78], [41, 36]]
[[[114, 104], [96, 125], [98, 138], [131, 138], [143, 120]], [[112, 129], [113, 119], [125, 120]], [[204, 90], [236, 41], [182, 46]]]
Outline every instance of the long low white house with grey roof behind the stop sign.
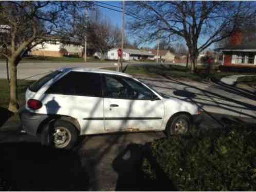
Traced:
[[[111, 49], [107, 52], [107, 58], [110, 60], [118, 60], [118, 49]], [[148, 51], [138, 49], [123, 49], [124, 60], [140, 60], [152, 58], [154, 55]]]

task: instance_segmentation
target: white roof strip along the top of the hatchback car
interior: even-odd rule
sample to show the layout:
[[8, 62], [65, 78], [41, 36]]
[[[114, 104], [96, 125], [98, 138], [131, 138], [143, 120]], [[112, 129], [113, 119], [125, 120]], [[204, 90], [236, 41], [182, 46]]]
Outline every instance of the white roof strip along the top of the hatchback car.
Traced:
[[58, 71], [62, 72], [69, 72], [69, 71], [76, 71], [76, 72], [89, 72], [89, 73], [103, 73], [103, 74], [110, 74], [110, 75], [120, 75], [125, 77], [133, 77], [132, 75], [121, 73], [117, 71], [105, 70], [105, 69], [94, 69], [94, 68], [81, 68], [81, 67], [74, 67], [74, 68], [60, 68]]

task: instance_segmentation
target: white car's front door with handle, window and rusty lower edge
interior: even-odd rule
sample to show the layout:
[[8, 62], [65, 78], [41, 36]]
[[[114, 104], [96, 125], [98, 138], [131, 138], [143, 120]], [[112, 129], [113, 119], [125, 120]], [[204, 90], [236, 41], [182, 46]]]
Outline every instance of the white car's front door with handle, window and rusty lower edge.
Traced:
[[103, 75], [103, 84], [106, 131], [160, 128], [164, 106], [150, 89], [139, 81], [119, 75]]

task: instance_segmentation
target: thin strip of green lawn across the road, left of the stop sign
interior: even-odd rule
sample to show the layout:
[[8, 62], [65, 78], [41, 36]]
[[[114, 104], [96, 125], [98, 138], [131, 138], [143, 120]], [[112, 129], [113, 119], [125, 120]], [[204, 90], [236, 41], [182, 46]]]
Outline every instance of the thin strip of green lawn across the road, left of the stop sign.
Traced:
[[[5, 58], [0, 58], [0, 61], [5, 62]], [[31, 56], [24, 57], [21, 62], [84, 62], [82, 57], [43, 57], [43, 56]], [[94, 57], [87, 57], [87, 62], [113, 62], [107, 60], [100, 60]]]

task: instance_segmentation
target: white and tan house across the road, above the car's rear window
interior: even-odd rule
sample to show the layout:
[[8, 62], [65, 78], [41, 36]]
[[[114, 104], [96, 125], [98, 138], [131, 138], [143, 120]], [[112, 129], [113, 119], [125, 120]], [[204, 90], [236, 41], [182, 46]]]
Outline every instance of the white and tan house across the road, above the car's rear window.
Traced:
[[30, 55], [63, 57], [69, 55], [82, 56], [83, 48], [74, 42], [63, 44], [61, 41], [47, 41], [35, 46]]

